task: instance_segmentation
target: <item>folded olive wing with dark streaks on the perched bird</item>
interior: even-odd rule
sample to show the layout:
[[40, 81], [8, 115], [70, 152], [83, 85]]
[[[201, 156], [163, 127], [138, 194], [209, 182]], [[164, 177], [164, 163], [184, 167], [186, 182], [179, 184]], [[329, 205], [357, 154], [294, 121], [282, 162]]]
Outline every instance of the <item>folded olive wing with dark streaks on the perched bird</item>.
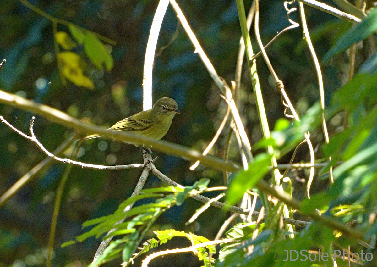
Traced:
[[111, 129], [116, 131], [124, 130], [133, 132], [149, 129], [150, 127], [152, 127], [152, 125], [153, 124], [152, 120], [150, 120], [149, 110], [147, 110], [118, 121], [113, 126], [111, 126]]

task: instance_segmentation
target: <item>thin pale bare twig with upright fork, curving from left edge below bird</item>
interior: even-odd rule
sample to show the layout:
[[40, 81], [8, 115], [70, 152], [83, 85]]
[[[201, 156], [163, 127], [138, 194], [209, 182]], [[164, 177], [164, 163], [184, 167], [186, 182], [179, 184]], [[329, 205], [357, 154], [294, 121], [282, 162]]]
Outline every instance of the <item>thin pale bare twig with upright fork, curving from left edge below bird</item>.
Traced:
[[26, 135], [25, 133], [21, 132], [20, 130], [18, 130], [14, 126], [12, 126], [12, 124], [10, 124], [8, 121], [6, 121], [3, 116], [0, 116], [0, 121], [2, 123], [6, 124], [14, 132], [18, 133], [19, 135], [21, 135], [25, 139], [34, 143], [35, 146], [37, 146], [44, 154], [46, 154], [48, 157], [53, 158], [56, 161], [59, 161], [59, 162], [62, 162], [62, 163], [69, 163], [69, 164], [77, 165], [77, 166], [80, 166], [82, 168], [89, 168], [89, 169], [96, 169], [96, 170], [123, 170], [123, 169], [141, 169], [141, 168], [143, 168], [143, 164], [106, 166], [106, 165], [83, 163], [83, 162], [80, 162], [80, 161], [70, 160], [69, 158], [59, 158], [59, 157], [55, 156], [53, 153], [49, 152], [47, 149], [45, 149], [44, 146], [38, 141], [37, 137], [35, 137], [34, 130], [33, 130], [34, 120], [35, 120], [35, 117], [32, 117], [31, 121], [30, 121], [30, 127], [29, 127], [31, 136], [29, 136], [29, 135]]

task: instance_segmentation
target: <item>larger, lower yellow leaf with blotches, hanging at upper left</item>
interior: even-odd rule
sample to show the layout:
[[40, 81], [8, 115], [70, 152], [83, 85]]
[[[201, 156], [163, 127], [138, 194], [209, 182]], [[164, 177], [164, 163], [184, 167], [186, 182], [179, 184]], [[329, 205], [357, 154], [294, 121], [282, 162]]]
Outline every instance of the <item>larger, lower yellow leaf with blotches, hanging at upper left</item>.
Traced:
[[92, 80], [84, 76], [85, 61], [78, 54], [70, 51], [60, 52], [59, 59], [62, 65], [62, 72], [68, 80], [77, 86], [94, 89]]

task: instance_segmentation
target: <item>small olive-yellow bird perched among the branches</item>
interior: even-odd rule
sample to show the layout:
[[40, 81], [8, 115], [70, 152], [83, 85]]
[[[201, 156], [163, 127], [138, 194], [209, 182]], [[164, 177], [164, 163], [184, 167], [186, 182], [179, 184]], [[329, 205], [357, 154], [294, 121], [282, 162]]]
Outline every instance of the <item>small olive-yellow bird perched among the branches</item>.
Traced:
[[[118, 121], [109, 129], [116, 131], [133, 132], [136, 135], [143, 135], [157, 140], [164, 137], [172, 124], [175, 114], [179, 114], [178, 105], [175, 100], [163, 97], [156, 101], [152, 109], [145, 110], [121, 121]], [[101, 137], [101, 135], [89, 135], [83, 140]], [[143, 148], [143, 146], [140, 146]]]

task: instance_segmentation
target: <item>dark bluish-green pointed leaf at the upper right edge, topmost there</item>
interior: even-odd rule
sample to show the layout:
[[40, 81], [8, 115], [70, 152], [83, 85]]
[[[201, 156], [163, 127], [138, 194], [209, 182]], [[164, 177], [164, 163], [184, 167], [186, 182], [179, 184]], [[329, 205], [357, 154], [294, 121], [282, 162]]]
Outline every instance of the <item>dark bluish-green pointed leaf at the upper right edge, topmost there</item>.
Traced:
[[375, 31], [377, 31], [376, 9], [370, 12], [368, 17], [366, 17], [360, 24], [357, 24], [356, 27], [349, 29], [345, 34], [343, 34], [342, 37], [338, 39], [336, 44], [325, 54], [323, 57], [323, 62], [328, 61], [334, 55], [349, 48], [352, 44], [365, 39]]

